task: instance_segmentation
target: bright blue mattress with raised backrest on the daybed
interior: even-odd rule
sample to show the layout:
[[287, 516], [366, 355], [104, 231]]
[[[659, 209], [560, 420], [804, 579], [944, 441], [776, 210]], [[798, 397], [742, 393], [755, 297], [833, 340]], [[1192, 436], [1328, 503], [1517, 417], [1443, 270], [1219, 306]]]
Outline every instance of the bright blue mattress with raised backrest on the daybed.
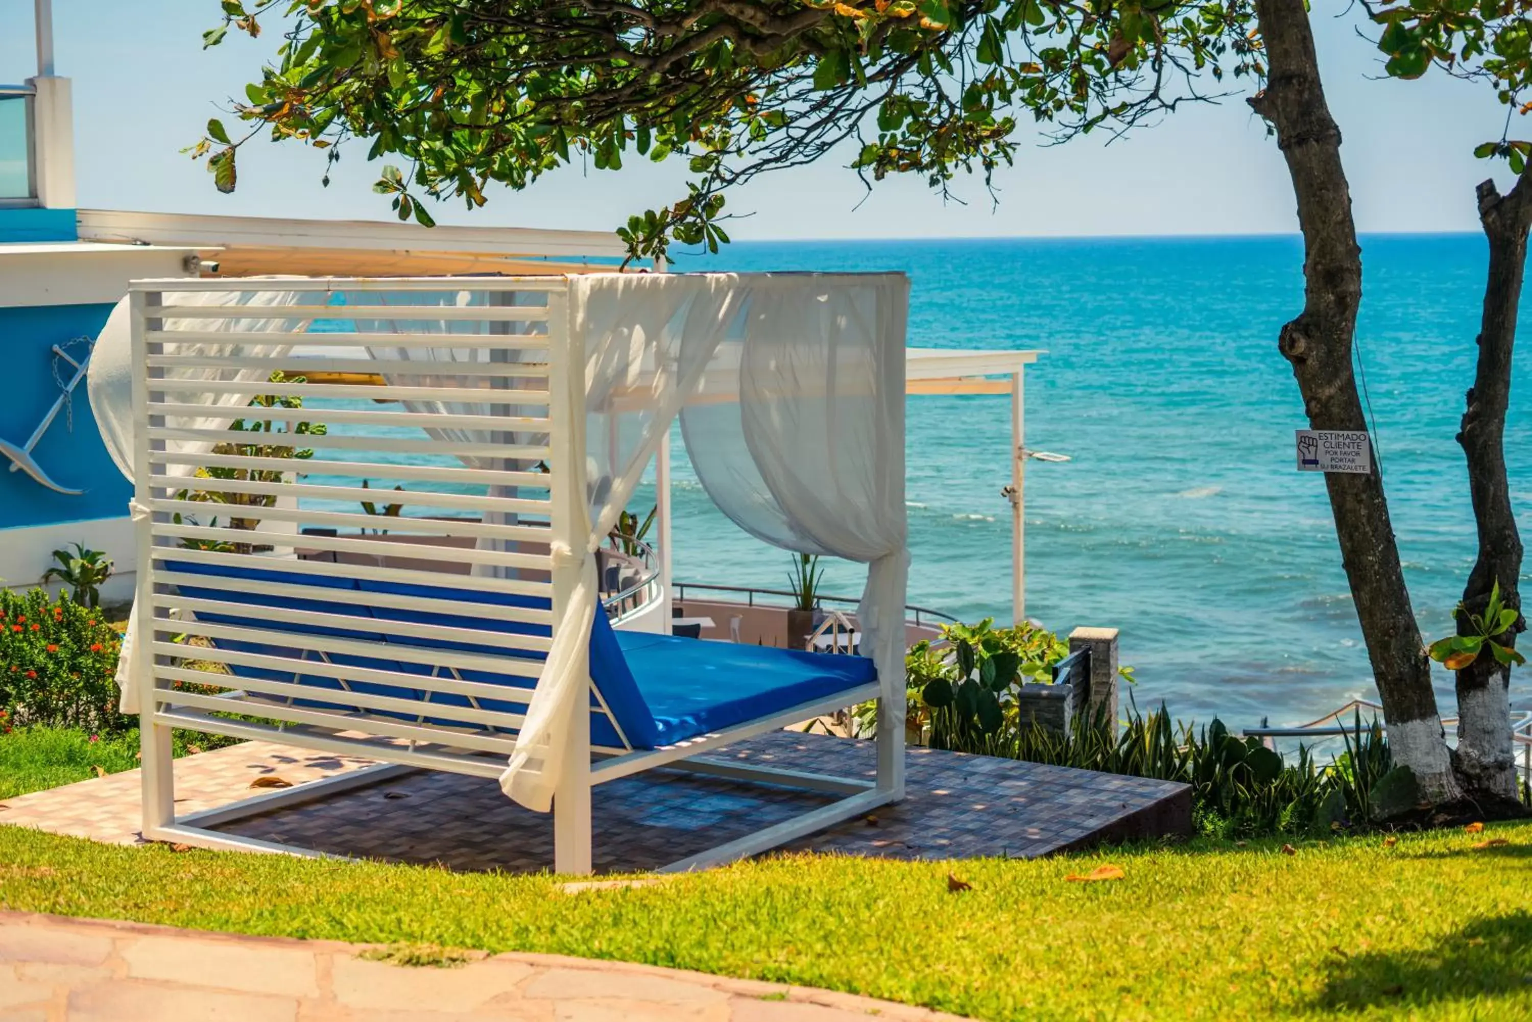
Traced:
[[[221, 601], [239, 604], [251, 608], [283, 607], [299, 608], [313, 613], [346, 614], [357, 617], [366, 613], [374, 621], [412, 621], [420, 624], [437, 624], [444, 628], [473, 628], [493, 631], [498, 634], [529, 634], [548, 636], [547, 625], [529, 625], [519, 622], [495, 621], [473, 613], [480, 607], [527, 607], [547, 608], [548, 601], [527, 596], [512, 596], [504, 593], [478, 593], [461, 590], [452, 585], [408, 585], [397, 582], [371, 582], [346, 579], [343, 576], [319, 576], [280, 568], [231, 568], [224, 565], [204, 565], [188, 562], [169, 562], [170, 570], [184, 575], [207, 576], [207, 585], [181, 585], [182, 595], [193, 599]], [[282, 582], [286, 585], [303, 585], [314, 590], [313, 599], [294, 599], [288, 596], [273, 596], [268, 593], [237, 593], [218, 585], [219, 578], [239, 578], [251, 581]], [[368, 599], [369, 593], [391, 593], [401, 596], [424, 596], [441, 601], [440, 611], [403, 611], [391, 607], [377, 607]], [[290, 624], [271, 622], [260, 616], [244, 616], [239, 613], [198, 613], [199, 621], [210, 624], [227, 624], [244, 628], [273, 628], [288, 634], [329, 636], [363, 642], [375, 642], [383, 647], [385, 656], [378, 657], [348, 657], [331, 654], [329, 660], [343, 667], [363, 667], [400, 674], [432, 673], [434, 665], [429, 651], [464, 651], [498, 657], [542, 660], [545, 654], [536, 650], [506, 650], [504, 647], [489, 647], [458, 639], [392, 636], [358, 628], [334, 628], [323, 624]], [[300, 650], [290, 645], [262, 645], [244, 640], [218, 639], [218, 648], [245, 653], [264, 653], [267, 656], [299, 657]], [[398, 659], [386, 656], [388, 648], [397, 650]], [[309, 657], [313, 659], [313, 657]], [[273, 671], [245, 665], [230, 665], [237, 677], [290, 680], [288, 671]], [[622, 728], [633, 748], [653, 749], [662, 745], [673, 745], [686, 739], [694, 739], [712, 731], [722, 731], [734, 725], [758, 720], [771, 714], [791, 709], [804, 702], [827, 699], [836, 693], [850, 691], [876, 680], [872, 660], [859, 656], [836, 656], [824, 653], [800, 653], [794, 650], [775, 650], [768, 647], [751, 647], [732, 642], [709, 642], [705, 639], [677, 639], [674, 636], [657, 636], [637, 631], [614, 631], [604, 611], [596, 613], [591, 622], [590, 636], [590, 674]], [[529, 679], [495, 671], [461, 670], [464, 680], [486, 682], [490, 685], [525, 686]], [[317, 690], [339, 691], [340, 682], [331, 677], [305, 674], [299, 677], [305, 686]], [[377, 696], [392, 696], [394, 699], [424, 700], [424, 690], [406, 688], [401, 685], [381, 685], [377, 682], [348, 682], [358, 693]], [[316, 693], [319, 696], [319, 693]], [[522, 712], [525, 703], [516, 697], [506, 700], [480, 699], [486, 709], [506, 712]], [[453, 722], [450, 706], [467, 706], [463, 696], [429, 693], [430, 706], [440, 706], [444, 712], [427, 714], [432, 723], [447, 726], [476, 726]], [[314, 700], [297, 700], [299, 705], [316, 708], [345, 709], [345, 705], [332, 703], [317, 697]], [[597, 706], [591, 696], [591, 706]], [[374, 711], [381, 716], [398, 717], [414, 722], [418, 714]], [[604, 746], [622, 746], [622, 739], [613, 729], [605, 714], [591, 714], [591, 742]]]

